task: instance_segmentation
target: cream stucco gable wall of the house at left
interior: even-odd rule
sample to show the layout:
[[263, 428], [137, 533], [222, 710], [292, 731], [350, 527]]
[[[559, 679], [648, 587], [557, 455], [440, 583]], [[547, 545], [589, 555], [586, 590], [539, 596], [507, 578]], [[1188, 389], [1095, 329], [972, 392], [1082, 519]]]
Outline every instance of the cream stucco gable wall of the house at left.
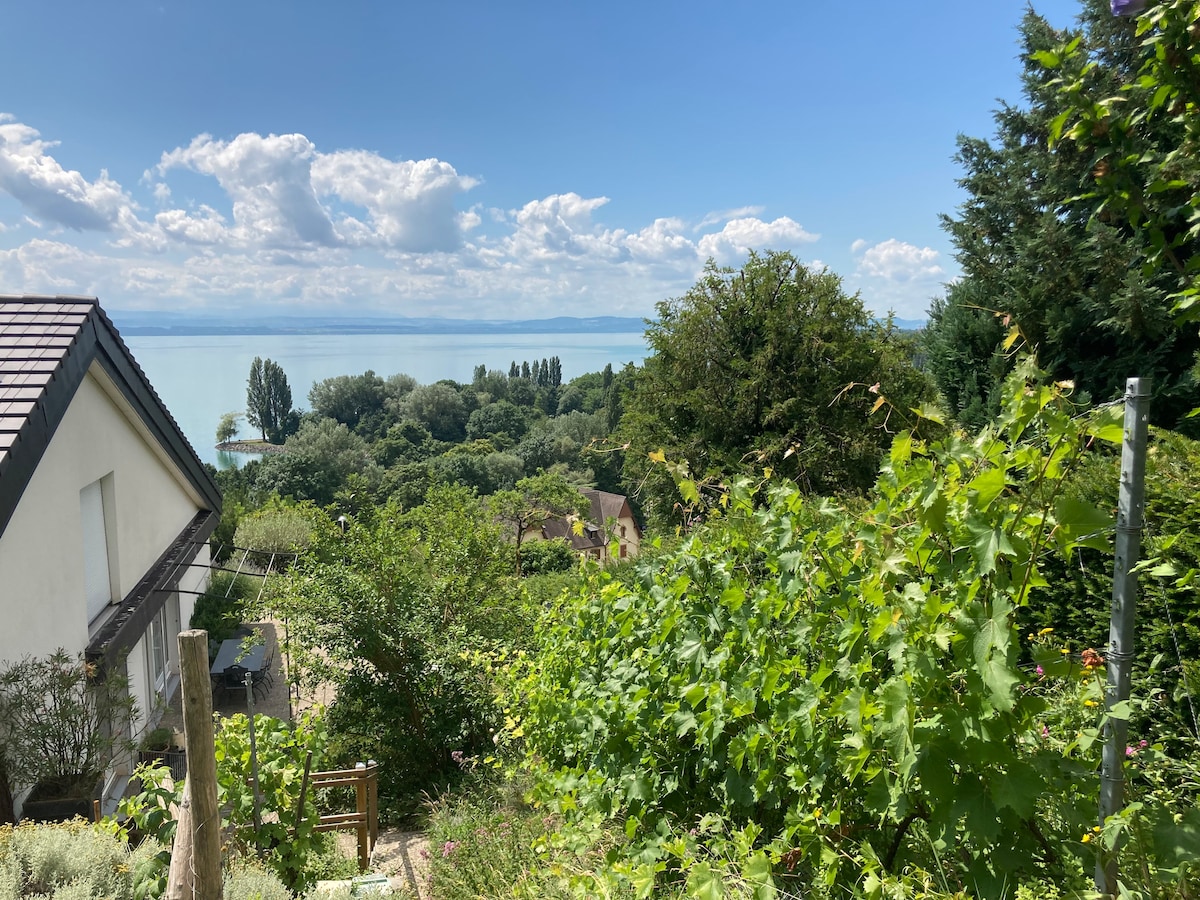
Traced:
[[92, 365], [0, 534], [0, 660], [88, 646], [79, 491], [108, 475], [119, 602], [205, 504]]

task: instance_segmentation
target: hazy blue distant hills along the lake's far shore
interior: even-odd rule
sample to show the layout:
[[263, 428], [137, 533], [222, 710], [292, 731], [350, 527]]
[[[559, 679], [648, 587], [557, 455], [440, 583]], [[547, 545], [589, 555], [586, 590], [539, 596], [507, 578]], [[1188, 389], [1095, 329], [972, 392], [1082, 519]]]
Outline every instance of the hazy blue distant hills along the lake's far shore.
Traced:
[[198, 316], [174, 312], [114, 311], [127, 336], [168, 335], [548, 335], [642, 334], [643, 319], [619, 316], [552, 319], [377, 318], [368, 316]]

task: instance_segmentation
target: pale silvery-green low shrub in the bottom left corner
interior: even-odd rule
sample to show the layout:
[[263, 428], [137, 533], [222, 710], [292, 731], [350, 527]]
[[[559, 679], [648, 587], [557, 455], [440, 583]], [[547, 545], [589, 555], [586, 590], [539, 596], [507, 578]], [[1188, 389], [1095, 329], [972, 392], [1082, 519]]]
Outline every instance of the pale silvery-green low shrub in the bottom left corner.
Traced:
[[142, 900], [161, 847], [137, 848], [110, 829], [73, 822], [0, 827], [0, 900]]

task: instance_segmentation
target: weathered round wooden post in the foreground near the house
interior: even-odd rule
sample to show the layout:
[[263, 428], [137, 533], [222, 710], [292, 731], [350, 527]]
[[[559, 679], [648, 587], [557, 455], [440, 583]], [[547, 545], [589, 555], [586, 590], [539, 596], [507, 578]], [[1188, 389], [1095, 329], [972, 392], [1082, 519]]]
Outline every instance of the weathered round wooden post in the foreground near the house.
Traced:
[[[217, 808], [217, 761], [212, 737], [212, 677], [209, 632], [179, 635], [180, 694], [187, 743], [187, 787], [191, 794], [192, 864], [196, 900], [221, 900], [221, 810]], [[174, 860], [172, 860], [174, 862]]]

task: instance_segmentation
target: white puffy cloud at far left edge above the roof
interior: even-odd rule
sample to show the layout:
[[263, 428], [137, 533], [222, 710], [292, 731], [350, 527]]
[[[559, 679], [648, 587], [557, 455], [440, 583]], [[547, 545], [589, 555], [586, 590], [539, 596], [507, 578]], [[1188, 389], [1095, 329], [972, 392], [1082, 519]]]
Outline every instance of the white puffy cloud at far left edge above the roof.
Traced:
[[134, 204], [101, 169], [89, 181], [47, 152], [56, 146], [36, 128], [0, 114], [0, 191], [30, 214], [78, 232], [112, 232], [134, 217]]

